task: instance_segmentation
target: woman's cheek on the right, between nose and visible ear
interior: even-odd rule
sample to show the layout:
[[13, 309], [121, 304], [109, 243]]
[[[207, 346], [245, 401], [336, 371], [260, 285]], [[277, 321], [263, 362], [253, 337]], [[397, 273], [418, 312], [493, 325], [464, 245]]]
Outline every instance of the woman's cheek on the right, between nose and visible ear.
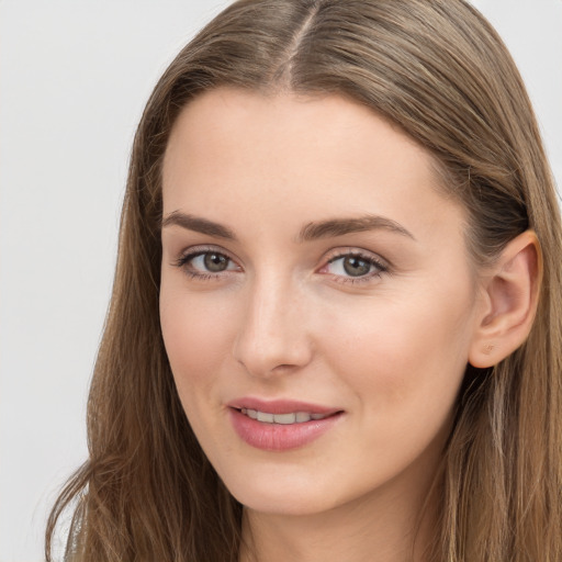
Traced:
[[369, 398], [366, 407], [404, 419], [430, 415], [436, 404], [441, 417], [450, 409], [468, 362], [468, 300], [380, 303], [330, 325], [330, 355], [356, 395]]

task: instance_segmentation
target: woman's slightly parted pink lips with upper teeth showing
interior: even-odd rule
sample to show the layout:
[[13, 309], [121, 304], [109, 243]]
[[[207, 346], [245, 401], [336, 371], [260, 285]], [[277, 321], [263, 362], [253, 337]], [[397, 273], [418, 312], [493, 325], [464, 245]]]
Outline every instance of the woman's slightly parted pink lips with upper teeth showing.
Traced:
[[344, 412], [295, 401], [241, 398], [228, 404], [235, 431], [247, 445], [285, 451], [312, 443], [341, 418]]

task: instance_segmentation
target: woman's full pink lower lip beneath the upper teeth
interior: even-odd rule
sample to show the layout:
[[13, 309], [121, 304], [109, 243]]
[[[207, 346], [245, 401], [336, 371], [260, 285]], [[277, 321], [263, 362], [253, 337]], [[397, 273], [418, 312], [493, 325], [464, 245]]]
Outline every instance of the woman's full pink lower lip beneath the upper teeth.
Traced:
[[251, 419], [235, 408], [229, 408], [229, 414], [234, 429], [240, 439], [263, 451], [288, 451], [304, 447], [328, 431], [342, 416], [340, 412], [324, 419], [283, 425]]

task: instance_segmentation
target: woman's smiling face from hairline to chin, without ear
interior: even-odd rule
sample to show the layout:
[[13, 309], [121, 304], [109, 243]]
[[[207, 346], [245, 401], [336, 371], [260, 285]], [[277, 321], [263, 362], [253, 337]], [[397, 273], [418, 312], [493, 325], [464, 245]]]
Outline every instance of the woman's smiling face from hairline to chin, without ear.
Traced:
[[339, 97], [218, 89], [164, 162], [160, 315], [189, 422], [251, 509], [426, 485], [477, 318], [430, 156]]

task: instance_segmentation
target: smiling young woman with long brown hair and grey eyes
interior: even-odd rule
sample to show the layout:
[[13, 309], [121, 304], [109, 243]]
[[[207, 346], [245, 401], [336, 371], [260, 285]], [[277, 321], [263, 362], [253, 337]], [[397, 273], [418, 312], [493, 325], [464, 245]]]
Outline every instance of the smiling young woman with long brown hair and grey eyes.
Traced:
[[143, 115], [68, 560], [560, 560], [561, 227], [461, 0], [239, 1]]

